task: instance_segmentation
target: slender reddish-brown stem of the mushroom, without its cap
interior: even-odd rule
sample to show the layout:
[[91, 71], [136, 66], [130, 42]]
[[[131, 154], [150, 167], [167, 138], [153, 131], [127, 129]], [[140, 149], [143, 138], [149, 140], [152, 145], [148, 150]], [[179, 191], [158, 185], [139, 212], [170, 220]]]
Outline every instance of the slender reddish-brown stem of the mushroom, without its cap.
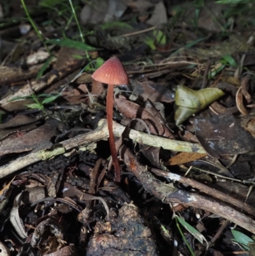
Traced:
[[108, 91], [106, 96], [106, 119], [109, 130], [109, 144], [112, 154], [112, 163], [115, 170], [115, 181], [120, 182], [120, 165], [117, 157], [117, 150], [115, 147], [115, 141], [113, 137], [112, 119], [113, 119], [113, 84], [108, 85]]

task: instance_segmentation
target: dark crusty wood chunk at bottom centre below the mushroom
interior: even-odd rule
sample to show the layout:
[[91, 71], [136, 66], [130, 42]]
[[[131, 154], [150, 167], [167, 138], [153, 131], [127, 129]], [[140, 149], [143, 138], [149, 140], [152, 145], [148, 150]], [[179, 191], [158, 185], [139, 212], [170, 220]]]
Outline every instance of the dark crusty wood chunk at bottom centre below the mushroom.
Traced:
[[99, 220], [86, 251], [87, 256], [157, 256], [156, 241], [138, 207], [125, 204], [118, 213], [111, 209], [108, 222]]

